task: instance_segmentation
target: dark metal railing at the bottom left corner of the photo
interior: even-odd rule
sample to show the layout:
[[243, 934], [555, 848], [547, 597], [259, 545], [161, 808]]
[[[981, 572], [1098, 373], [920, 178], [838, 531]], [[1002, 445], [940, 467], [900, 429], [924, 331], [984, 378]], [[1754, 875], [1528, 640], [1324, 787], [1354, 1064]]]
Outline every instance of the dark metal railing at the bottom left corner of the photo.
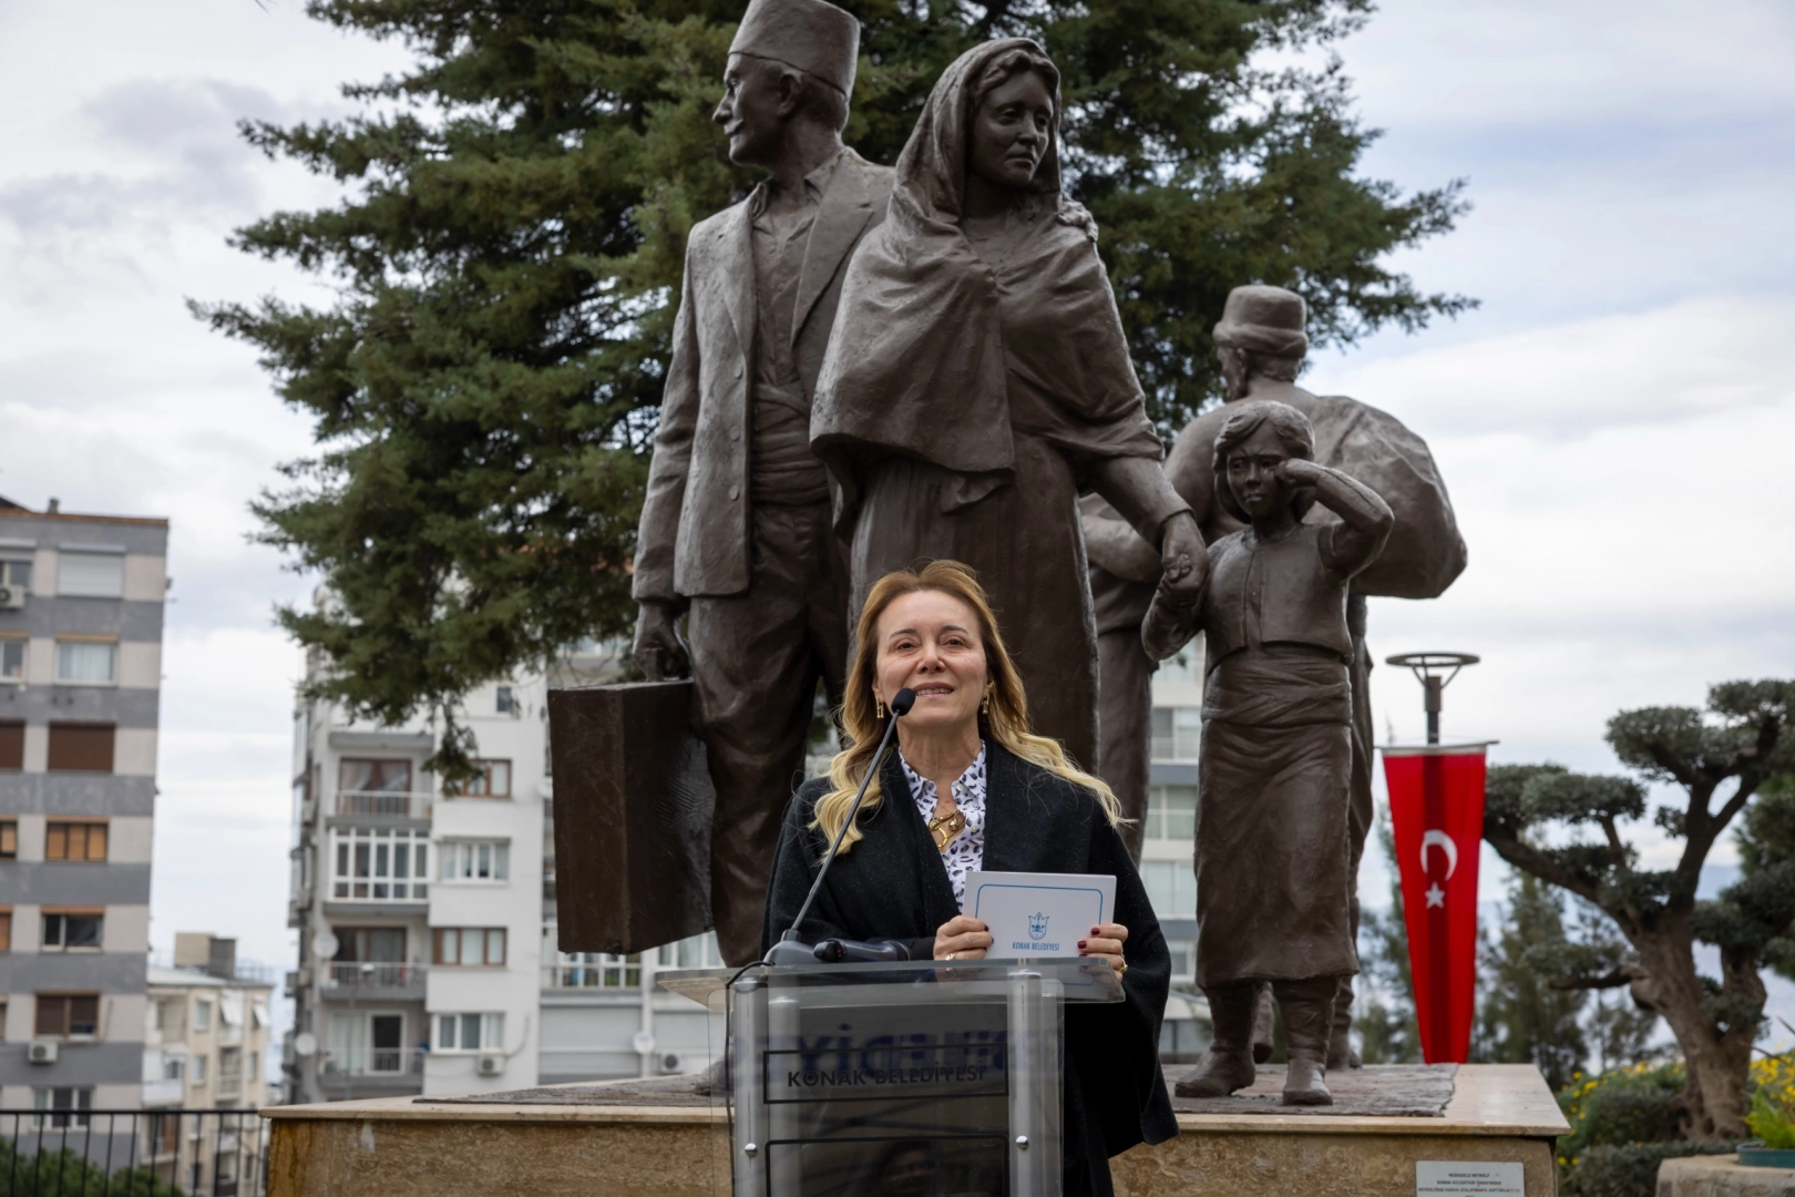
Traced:
[[266, 1197], [267, 1123], [253, 1109], [0, 1109], [0, 1192]]

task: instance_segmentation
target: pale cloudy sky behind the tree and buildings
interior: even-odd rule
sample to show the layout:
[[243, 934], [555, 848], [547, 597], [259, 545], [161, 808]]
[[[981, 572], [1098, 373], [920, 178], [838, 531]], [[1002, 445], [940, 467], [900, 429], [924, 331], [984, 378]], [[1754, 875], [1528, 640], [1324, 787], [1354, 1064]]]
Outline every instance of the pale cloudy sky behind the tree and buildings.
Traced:
[[[1483, 300], [1309, 375], [1429, 438], [1470, 544], [1443, 599], [1373, 605], [1373, 650], [1483, 655], [1449, 736], [1580, 768], [1614, 768], [1617, 709], [1795, 675], [1795, 9], [1397, 0], [1343, 56], [1386, 129], [1366, 170], [1475, 203], [1400, 269]], [[314, 285], [224, 244], [330, 199], [233, 124], [341, 113], [400, 63], [298, 0], [0, 5], [0, 494], [174, 520], [158, 948], [293, 955], [300, 662], [269, 610], [307, 589], [246, 502], [309, 429], [183, 301]], [[1414, 684], [1375, 686], [1416, 736]]]

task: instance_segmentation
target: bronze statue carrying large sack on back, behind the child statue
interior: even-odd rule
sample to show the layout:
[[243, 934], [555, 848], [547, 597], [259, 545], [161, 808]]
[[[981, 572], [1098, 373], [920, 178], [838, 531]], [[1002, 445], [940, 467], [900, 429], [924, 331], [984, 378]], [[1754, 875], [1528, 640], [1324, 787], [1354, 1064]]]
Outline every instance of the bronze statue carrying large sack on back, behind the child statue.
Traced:
[[[1346, 621], [1352, 635], [1352, 772], [1348, 847], [1353, 878], [1352, 931], [1359, 933], [1357, 874], [1359, 858], [1371, 829], [1371, 657], [1366, 650], [1366, 598], [1438, 598], [1465, 569], [1465, 540], [1459, 537], [1452, 501], [1434, 467], [1427, 443], [1395, 416], [1344, 395], [1312, 395], [1296, 386], [1309, 352], [1305, 330], [1309, 309], [1303, 298], [1283, 287], [1235, 287], [1228, 294], [1222, 319], [1215, 325], [1215, 352], [1222, 366], [1224, 402], [1195, 420], [1178, 436], [1165, 459], [1165, 474], [1190, 504], [1213, 544], [1244, 526], [1217, 501], [1215, 438], [1242, 400], [1276, 400], [1301, 411], [1314, 425], [1314, 459], [1361, 479], [1384, 497], [1397, 522], [1382, 555], [1352, 580]], [[1334, 519], [1314, 510], [1310, 520]], [[1158, 555], [1138, 537], [1129, 540], [1125, 526], [1086, 515], [1086, 540], [1091, 560], [1115, 574], [1118, 585], [1147, 587], [1158, 580]], [[1115, 682], [1115, 684], [1111, 684]], [[1127, 730], [1151, 720], [1151, 682], [1138, 669], [1102, 677], [1104, 745], [1143, 743], [1145, 734]], [[1109, 759], [1104, 761], [1108, 781]], [[1134, 772], [1145, 773], [1145, 766]], [[1120, 795], [1120, 791], [1118, 791]], [[1350, 1062], [1346, 1032], [1352, 1025], [1352, 980], [1335, 998], [1328, 1066]], [[1255, 1034], [1269, 1052], [1269, 1003], [1262, 1005]]]

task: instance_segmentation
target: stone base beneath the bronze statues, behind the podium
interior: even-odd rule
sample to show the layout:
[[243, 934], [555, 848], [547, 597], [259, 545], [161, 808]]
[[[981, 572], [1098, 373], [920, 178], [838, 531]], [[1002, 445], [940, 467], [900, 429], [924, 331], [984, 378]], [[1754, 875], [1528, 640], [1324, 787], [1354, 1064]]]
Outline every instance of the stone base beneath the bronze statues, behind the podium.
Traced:
[[[1181, 1070], [1174, 1070], [1176, 1071]], [[1264, 1070], [1278, 1073], [1282, 1070]], [[1287, 1111], [1235, 1098], [1239, 1113], [1178, 1114], [1178, 1138], [1111, 1161], [1124, 1197], [1551, 1197], [1553, 1140], [1569, 1132], [1540, 1073], [1526, 1064], [1366, 1068], [1330, 1077], [1339, 1097], [1395, 1095], [1416, 1113]], [[1271, 1080], [1271, 1077], [1267, 1077]], [[1432, 1088], [1431, 1088], [1432, 1086]], [[492, 1100], [492, 1098], [501, 1100]], [[449, 1197], [592, 1193], [727, 1197], [727, 1114], [679, 1082], [551, 1086], [461, 1100], [375, 1098], [275, 1105], [271, 1197]], [[1185, 1105], [1185, 1102], [1178, 1102]], [[1221, 1102], [1226, 1105], [1226, 1102]], [[1339, 1107], [1335, 1107], [1339, 1109]], [[1458, 1188], [1418, 1186], [1416, 1165], [1461, 1168]], [[1479, 1168], [1479, 1165], [1520, 1165]], [[1440, 1170], [1431, 1170], [1432, 1172]], [[1483, 1181], [1475, 1174], [1488, 1174]], [[1522, 1188], [1511, 1188], [1520, 1179]]]

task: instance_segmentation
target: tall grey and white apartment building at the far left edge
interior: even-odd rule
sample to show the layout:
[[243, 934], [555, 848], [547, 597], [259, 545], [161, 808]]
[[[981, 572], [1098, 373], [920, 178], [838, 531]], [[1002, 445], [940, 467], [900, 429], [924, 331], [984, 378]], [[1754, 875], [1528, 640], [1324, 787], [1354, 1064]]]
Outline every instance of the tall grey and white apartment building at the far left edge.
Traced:
[[0, 499], [0, 1105], [142, 1097], [162, 519]]

